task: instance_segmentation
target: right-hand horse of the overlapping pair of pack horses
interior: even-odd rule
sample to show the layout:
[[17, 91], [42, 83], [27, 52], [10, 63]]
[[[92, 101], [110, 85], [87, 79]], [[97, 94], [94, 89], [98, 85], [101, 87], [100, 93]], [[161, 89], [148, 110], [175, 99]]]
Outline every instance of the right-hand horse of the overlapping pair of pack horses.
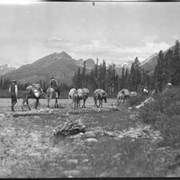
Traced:
[[78, 102], [77, 102], [77, 106], [80, 107], [80, 101], [83, 100], [83, 105], [82, 105], [82, 108], [85, 108], [85, 103], [86, 103], [86, 100], [90, 94], [90, 91], [89, 89], [87, 88], [83, 88], [83, 89], [78, 89], [77, 90], [77, 93], [78, 93]]

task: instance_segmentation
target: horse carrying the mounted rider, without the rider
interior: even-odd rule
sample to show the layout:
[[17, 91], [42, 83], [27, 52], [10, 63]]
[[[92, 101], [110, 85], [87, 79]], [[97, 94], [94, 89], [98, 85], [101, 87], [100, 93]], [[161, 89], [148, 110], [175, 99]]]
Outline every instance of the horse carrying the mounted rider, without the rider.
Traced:
[[46, 97], [47, 97], [47, 107], [49, 108], [49, 102], [51, 99], [55, 99], [55, 108], [58, 108], [58, 98], [60, 97], [60, 92], [62, 90], [61, 86], [58, 86], [55, 90], [53, 87], [49, 86], [46, 90]]

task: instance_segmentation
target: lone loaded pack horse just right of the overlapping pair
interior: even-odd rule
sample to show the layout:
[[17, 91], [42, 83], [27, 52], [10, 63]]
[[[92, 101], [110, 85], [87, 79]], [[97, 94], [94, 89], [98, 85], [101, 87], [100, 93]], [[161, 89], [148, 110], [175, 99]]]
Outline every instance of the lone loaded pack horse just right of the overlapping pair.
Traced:
[[[94, 107], [102, 107], [103, 100], [107, 103], [107, 93], [103, 89], [96, 89], [94, 91]], [[97, 101], [99, 100], [99, 106], [97, 106]]]

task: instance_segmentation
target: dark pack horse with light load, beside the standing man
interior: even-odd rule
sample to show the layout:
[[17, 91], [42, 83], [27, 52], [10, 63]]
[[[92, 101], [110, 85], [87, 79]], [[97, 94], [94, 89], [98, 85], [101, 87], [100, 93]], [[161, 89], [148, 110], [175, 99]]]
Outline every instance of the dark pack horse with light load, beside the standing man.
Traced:
[[40, 88], [39, 84], [29, 85], [26, 88], [26, 91], [23, 93], [23, 102], [22, 102], [22, 106], [21, 106], [22, 110], [24, 110], [25, 102], [27, 104], [28, 109], [31, 110], [31, 108], [29, 107], [29, 102], [28, 102], [29, 98], [36, 99], [35, 109], [37, 109], [37, 107], [39, 105], [39, 99], [41, 98], [41, 96], [43, 94], [44, 94], [44, 92], [43, 92], [42, 88]]

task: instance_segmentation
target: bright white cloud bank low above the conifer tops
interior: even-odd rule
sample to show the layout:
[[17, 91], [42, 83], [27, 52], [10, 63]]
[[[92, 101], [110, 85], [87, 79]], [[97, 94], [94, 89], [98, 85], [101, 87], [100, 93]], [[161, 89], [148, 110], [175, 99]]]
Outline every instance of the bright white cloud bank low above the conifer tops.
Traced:
[[74, 47], [74, 54], [81, 54], [86, 57], [99, 57], [109, 61], [123, 62], [126, 60], [139, 60], [148, 58], [150, 55], [166, 50], [170, 47], [166, 42], [154, 42], [156, 37], [146, 37], [141, 46], [117, 46], [107, 40], [92, 40], [88, 44], [81, 44]]

